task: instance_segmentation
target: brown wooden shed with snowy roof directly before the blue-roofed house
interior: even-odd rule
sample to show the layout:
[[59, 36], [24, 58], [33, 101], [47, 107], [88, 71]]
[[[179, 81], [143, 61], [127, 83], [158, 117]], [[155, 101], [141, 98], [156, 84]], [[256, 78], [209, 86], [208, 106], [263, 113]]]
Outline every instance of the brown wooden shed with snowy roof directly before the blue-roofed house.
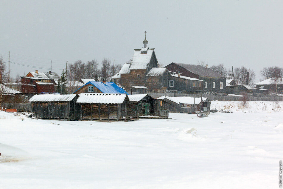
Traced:
[[127, 94], [81, 93], [77, 99], [80, 105], [80, 120], [116, 120], [127, 117]]

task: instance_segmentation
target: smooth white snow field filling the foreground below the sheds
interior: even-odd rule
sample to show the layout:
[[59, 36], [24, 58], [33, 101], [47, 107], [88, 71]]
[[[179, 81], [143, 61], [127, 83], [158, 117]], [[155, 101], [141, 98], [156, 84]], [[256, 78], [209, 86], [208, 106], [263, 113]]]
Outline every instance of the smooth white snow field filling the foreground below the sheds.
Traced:
[[0, 188], [278, 188], [282, 111], [169, 117], [67, 122], [0, 112]]

